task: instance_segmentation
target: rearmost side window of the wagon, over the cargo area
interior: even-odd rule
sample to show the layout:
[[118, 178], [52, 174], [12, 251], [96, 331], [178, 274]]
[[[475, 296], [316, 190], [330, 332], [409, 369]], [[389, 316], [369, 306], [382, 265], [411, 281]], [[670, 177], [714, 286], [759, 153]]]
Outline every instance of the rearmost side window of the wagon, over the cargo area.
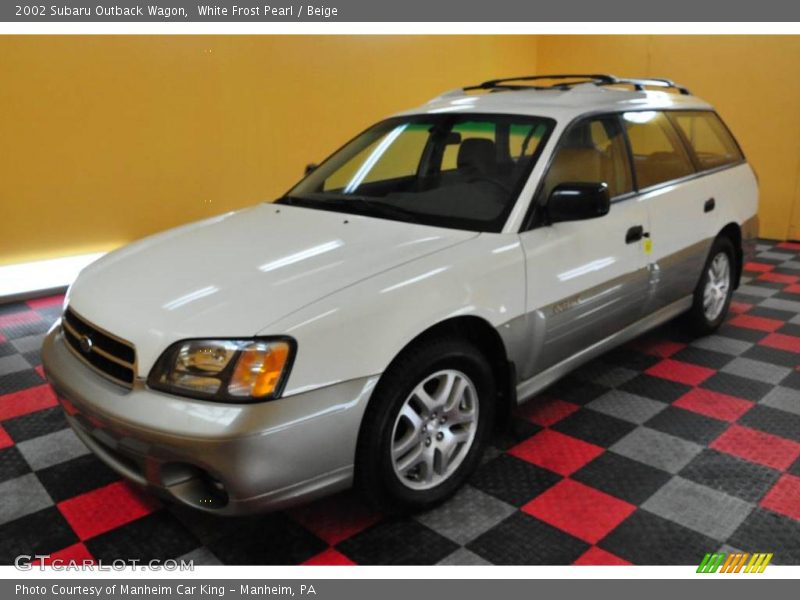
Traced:
[[670, 114], [704, 171], [740, 162], [742, 156], [736, 141], [713, 112], [680, 111]]

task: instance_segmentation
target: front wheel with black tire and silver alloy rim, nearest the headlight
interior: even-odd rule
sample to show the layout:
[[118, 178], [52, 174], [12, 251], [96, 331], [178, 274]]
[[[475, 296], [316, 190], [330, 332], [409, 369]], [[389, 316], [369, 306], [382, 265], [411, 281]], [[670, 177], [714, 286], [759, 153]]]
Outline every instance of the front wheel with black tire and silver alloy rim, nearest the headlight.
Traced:
[[473, 344], [448, 337], [409, 348], [383, 374], [367, 407], [356, 488], [387, 513], [446, 500], [478, 465], [495, 406], [491, 366]]

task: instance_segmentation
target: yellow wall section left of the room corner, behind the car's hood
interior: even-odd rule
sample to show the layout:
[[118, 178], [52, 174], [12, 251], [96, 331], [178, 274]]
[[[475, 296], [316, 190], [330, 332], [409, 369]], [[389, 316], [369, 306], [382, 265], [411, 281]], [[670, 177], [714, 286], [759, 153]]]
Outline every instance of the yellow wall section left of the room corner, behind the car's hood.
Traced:
[[497, 73], [524, 37], [0, 36], [0, 264], [274, 199], [376, 120]]

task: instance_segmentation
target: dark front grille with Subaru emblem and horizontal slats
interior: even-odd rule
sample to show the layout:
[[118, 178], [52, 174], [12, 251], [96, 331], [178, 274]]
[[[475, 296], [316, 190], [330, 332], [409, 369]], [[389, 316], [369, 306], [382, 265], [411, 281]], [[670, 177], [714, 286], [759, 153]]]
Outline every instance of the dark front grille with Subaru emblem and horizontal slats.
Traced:
[[75, 356], [112, 381], [133, 387], [136, 350], [132, 344], [98, 329], [69, 308], [61, 324], [67, 346]]

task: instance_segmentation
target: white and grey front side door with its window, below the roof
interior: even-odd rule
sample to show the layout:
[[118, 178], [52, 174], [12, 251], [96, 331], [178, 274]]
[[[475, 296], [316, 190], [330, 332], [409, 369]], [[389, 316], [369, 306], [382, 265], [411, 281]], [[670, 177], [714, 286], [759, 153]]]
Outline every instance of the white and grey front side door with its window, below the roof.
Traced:
[[612, 205], [603, 217], [520, 234], [526, 255], [530, 343], [527, 379], [636, 321], [648, 290], [642, 235], [647, 209], [635, 197], [618, 115], [587, 118], [561, 137], [537, 204], [561, 183], [604, 182]]

